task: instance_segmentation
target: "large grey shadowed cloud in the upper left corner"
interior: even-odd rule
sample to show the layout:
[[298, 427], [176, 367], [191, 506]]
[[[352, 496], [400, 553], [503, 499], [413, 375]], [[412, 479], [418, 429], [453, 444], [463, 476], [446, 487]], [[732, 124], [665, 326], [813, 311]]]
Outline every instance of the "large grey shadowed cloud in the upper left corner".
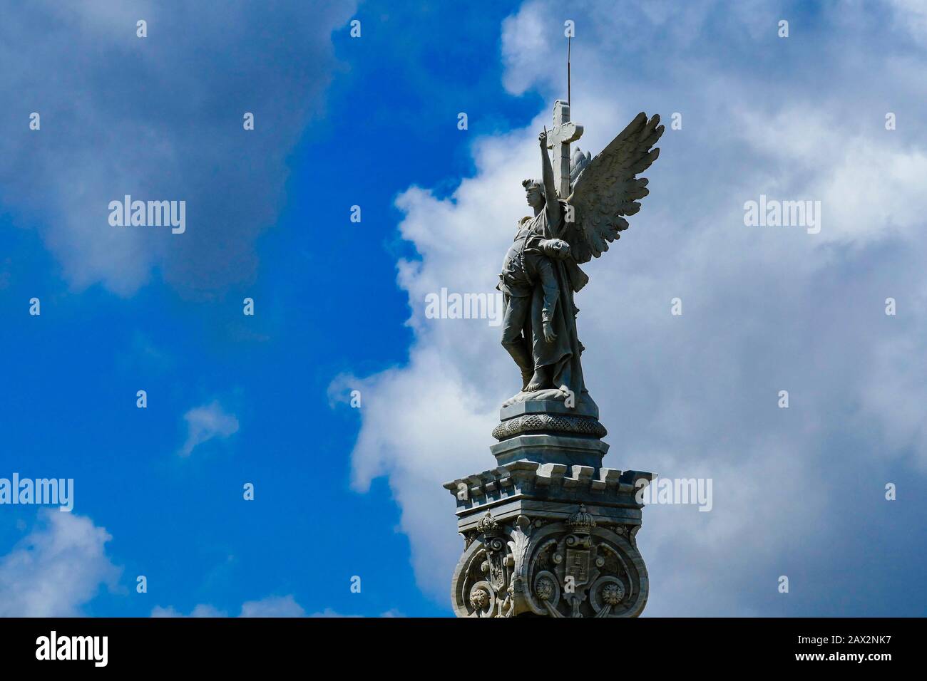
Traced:
[[[0, 200], [81, 290], [153, 277], [209, 299], [253, 281], [287, 157], [324, 112], [354, 3], [44, 0], [0, 22]], [[145, 18], [148, 37], [135, 35]], [[196, 27], [196, 30], [192, 30]], [[41, 129], [28, 116], [41, 115]], [[244, 132], [245, 111], [256, 114]], [[256, 136], [247, 139], [248, 135]], [[254, 144], [248, 144], [248, 142]], [[115, 228], [108, 202], [184, 200], [186, 231]]]

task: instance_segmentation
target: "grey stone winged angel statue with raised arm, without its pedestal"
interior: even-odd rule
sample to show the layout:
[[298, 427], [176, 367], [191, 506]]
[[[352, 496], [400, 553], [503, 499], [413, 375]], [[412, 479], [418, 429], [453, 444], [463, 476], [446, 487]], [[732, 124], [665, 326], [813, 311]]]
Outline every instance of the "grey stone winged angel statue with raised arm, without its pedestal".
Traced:
[[[659, 122], [659, 116], [647, 120], [641, 112], [597, 157], [577, 149], [571, 164], [565, 160], [568, 142], [578, 139], [581, 127], [568, 124], [572, 137], [564, 136], [565, 124], [538, 136], [541, 179], [522, 183], [534, 216], [518, 222], [499, 275], [502, 347], [522, 377], [521, 391], [503, 406], [570, 395], [577, 402], [591, 401], [579, 362], [583, 346], [573, 303], [573, 294], [589, 282], [579, 265], [608, 250], [628, 229], [625, 217], [640, 210], [637, 199], [649, 194], [647, 180], [638, 174], [659, 156], [660, 150], [653, 148], [664, 130]], [[559, 164], [556, 175], [549, 146]]]

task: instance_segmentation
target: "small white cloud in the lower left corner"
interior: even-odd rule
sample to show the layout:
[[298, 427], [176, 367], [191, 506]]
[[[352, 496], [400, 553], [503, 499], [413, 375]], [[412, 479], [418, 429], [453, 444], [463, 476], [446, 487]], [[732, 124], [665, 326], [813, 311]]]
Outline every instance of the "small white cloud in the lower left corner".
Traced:
[[0, 617], [76, 617], [121, 569], [106, 554], [112, 539], [75, 513], [39, 511], [39, 523], [0, 558]]

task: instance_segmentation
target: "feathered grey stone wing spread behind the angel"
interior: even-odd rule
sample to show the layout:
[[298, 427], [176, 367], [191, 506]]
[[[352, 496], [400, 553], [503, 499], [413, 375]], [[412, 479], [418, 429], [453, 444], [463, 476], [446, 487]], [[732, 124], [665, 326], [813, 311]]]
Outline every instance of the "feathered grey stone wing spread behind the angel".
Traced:
[[601, 154], [578, 159], [578, 177], [566, 200], [574, 208], [574, 221], [565, 222], [563, 238], [579, 264], [607, 251], [609, 242], [628, 229], [624, 216], [640, 210], [637, 199], [650, 194], [646, 178], [637, 175], [660, 155], [652, 148], [663, 134], [659, 122], [659, 116], [647, 120], [641, 111]]

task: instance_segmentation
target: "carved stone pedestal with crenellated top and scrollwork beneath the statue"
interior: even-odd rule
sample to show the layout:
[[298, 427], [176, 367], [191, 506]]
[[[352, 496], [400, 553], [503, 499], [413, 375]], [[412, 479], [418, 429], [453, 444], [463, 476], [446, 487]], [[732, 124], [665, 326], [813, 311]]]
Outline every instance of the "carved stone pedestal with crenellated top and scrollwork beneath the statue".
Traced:
[[635, 493], [654, 473], [603, 468], [598, 409], [536, 400], [502, 409], [498, 466], [444, 486], [464, 554], [451, 580], [459, 617], [635, 617], [647, 569]]

